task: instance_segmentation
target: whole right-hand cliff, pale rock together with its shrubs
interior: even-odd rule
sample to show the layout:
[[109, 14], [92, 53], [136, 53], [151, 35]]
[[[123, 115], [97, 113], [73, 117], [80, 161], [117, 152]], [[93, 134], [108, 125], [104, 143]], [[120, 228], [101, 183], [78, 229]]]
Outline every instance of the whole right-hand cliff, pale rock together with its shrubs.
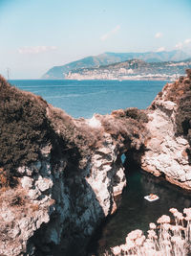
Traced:
[[167, 83], [148, 112], [146, 127], [150, 138], [145, 144], [141, 167], [181, 188], [191, 190], [189, 133], [191, 131], [191, 79]]

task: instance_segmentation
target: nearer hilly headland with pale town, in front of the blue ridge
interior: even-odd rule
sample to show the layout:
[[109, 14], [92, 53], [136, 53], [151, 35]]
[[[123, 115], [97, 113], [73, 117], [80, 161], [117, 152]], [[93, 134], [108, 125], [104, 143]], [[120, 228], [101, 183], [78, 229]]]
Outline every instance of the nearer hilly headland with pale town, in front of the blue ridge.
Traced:
[[68, 80], [175, 80], [191, 68], [191, 58], [181, 61], [145, 62], [131, 59], [68, 73]]

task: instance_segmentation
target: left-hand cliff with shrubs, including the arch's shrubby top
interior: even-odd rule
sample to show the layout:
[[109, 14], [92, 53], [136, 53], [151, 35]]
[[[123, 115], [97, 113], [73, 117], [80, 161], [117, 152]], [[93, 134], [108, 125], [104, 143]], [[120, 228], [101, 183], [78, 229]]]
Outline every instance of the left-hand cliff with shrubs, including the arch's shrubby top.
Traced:
[[74, 120], [1, 78], [0, 255], [85, 255], [126, 185], [121, 154], [147, 136], [135, 111]]

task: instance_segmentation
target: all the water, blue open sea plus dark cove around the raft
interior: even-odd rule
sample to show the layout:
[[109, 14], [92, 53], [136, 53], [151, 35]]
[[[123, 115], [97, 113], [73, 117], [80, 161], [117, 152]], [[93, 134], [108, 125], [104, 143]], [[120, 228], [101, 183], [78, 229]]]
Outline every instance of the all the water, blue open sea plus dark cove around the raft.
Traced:
[[[42, 96], [74, 118], [91, 118], [94, 113], [109, 114], [126, 107], [141, 109], [149, 106], [168, 81], [11, 81], [16, 87]], [[165, 180], [145, 174], [138, 168], [126, 170], [125, 188], [117, 213], [97, 229], [88, 255], [103, 255], [111, 246], [124, 244], [127, 233], [134, 229], [144, 232], [149, 222], [156, 222], [171, 207], [180, 211], [191, 207], [190, 194]], [[159, 200], [149, 202], [144, 196], [157, 194]]]

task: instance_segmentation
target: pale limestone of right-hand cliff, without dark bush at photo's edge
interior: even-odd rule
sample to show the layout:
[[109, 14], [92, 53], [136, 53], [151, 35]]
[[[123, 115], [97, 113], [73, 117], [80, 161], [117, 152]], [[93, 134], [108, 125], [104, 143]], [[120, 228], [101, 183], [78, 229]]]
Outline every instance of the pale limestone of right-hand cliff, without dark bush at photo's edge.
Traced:
[[[179, 97], [182, 97], [182, 93], [175, 97], [173, 86], [175, 89], [179, 89], [180, 86], [180, 90], [183, 92], [182, 87], [189, 86], [189, 84], [182, 84], [180, 81], [166, 84], [162, 90], [162, 97], [159, 99], [158, 96], [152, 104], [155, 109], [149, 108], [147, 128], [150, 132], [150, 140], [145, 145], [141, 166], [147, 172], [154, 175], [164, 174], [168, 181], [191, 190], [189, 142], [185, 135], [177, 134], [176, 125]], [[169, 101], [168, 98], [173, 99], [174, 102]]]

